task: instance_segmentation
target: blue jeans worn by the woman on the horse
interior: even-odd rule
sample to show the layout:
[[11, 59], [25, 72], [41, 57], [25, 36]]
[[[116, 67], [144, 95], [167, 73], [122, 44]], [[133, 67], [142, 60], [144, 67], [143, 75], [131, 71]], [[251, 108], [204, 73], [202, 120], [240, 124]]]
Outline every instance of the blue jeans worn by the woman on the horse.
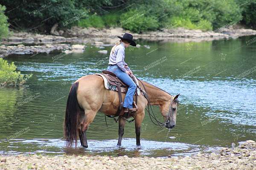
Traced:
[[124, 101], [123, 107], [133, 108], [132, 106], [133, 96], [137, 87], [134, 81], [131, 79], [131, 77], [128, 74], [123, 72], [117, 65], [108, 66], [107, 70], [116, 74], [116, 77], [118, 77], [120, 80], [122, 80], [122, 82], [128, 85], [128, 91], [125, 95], [125, 101]]

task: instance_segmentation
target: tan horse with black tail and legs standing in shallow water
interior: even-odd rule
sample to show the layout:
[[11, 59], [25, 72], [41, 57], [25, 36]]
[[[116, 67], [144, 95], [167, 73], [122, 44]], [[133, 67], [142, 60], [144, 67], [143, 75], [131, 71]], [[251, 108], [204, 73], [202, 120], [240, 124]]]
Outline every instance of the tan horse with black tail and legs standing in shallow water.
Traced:
[[[143, 80], [139, 80], [139, 87], [146, 93], [148, 99], [139, 95], [137, 99], [138, 110], [134, 114], [136, 144], [140, 145], [140, 126], [145, 116], [145, 108], [148, 103], [158, 105], [165, 123], [162, 124], [169, 130], [176, 125], [176, 114], [178, 95], [172, 96], [157, 86]], [[125, 94], [122, 93], [122, 99]], [[119, 107], [118, 92], [105, 88], [104, 80], [98, 75], [86, 75], [79, 78], [71, 85], [67, 99], [65, 119], [63, 122], [64, 139], [67, 147], [72, 147], [79, 136], [82, 147], [87, 148], [86, 130], [96, 116], [97, 112], [102, 112], [108, 116], [114, 116]], [[148, 108], [149, 110], [149, 108]], [[119, 138], [117, 145], [121, 146], [124, 134], [125, 117], [119, 116]], [[159, 125], [159, 121], [157, 121]]]

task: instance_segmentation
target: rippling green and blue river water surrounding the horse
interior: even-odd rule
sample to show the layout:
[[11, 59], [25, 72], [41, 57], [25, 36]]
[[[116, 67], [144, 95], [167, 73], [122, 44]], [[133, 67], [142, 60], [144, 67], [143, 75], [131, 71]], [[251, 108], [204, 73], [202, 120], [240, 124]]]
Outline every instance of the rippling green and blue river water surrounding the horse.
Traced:
[[[141, 146], [136, 146], [134, 122], [127, 122], [122, 146], [117, 147], [118, 123], [107, 118], [107, 127], [104, 114], [97, 113], [87, 131], [89, 147], [64, 147], [62, 123], [70, 85], [108, 67], [109, 54], [99, 54], [100, 48], [87, 44], [83, 54], [67, 54], [55, 61], [52, 57], [58, 51], [6, 57], [22, 74], [33, 76], [23, 86], [0, 88], [0, 154], [165, 157], [255, 140], [256, 43], [246, 44], [251, 38], [183, 43], [137, 40], [140, 48], [126, 48], [125, 62], [138, 78], [170, 94], [180, 93], [175, 128], [168, 133], [146, 113]], [[109, 53], [111, 46], [104, 49]], [[29, 102], [22, 103], [25, 99]], [[153, 111], [163, 121], [159, 107]]]

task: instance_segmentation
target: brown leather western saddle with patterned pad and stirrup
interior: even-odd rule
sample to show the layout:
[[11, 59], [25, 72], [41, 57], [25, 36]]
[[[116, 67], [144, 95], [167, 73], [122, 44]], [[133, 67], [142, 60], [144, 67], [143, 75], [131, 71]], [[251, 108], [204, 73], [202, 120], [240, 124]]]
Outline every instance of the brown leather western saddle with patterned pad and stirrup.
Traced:
[[[103, 75], [107, 80], [108, 80], [108, 89], [109, 90], [113, 90], [113, 91], [117, 91], [118, 92], [118, 96], [119, 96], [119, 107], [118, 110], [116, 111], [115, 116], [108, 116], [108, 117], [116, 117], [116, 116], [122, 116], [125, 113], [128, 113], [130, 115], [130, 111], [124, 111], [123, 109], [123, 101], [122, 101], [122, 94], [121, 93], [127, 93], [128, 91], [128, 85], [126, 85], [124, 82], [122, 82], [122, 80], [120, 80], [118, 77], [116, 77], [116, 74], [114, 74], [111, 71], [107, 71], [107, 70], [103, 70], [101, 75], [100, 74], [96, 74], [96, 75]], [[136, 83], [136, 77], [132, 74], [131, 75], [131, 79], [135, 82], [135, 84], [137, 85], [138, 88], [138, 84]], [[136, 111], [138, 111], [138, 107], [137, 107], [137, 100], [138, 100], [138, 91], [137, 88], [135, 90], [135, 100], [133, 101], [133, 105], [136, 108]], [[135, 111], [135, 112], [136, 112]], [[132, 112], [131, 112], [132, 113]]]

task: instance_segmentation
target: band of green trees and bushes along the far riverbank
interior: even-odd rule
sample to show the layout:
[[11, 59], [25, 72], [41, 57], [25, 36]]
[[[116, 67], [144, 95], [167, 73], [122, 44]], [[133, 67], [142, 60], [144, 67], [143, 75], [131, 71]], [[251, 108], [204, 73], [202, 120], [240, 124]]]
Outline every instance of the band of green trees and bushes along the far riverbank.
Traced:
[[[49, 3], [51, 6], [41, 10]], [[247, 3], [244, 0], [22, 0], [22, 3], [20, 0], [5, 0], [2, 5], [7, 8], [5, 14], [10, 26], [25, 31], [49, 32], [55, 23], [63, 27], [63, 22], [82, 12], [90, 14], [89, 17], [74, 20], [64, 28], [75, 24], [97, 28], [121, 26], [120, 22], [140, 11], [143, 11], [142, 17], [122, 27], [141, 33], [155, 31], [177, 20], [180, 26], [189, 29], [203, 25], [200, 29], [212, 30], [239, 21], [256, 28], [255, 0]], [[39, 12], [30, 15], [36, 10]], [[0, 31], [5, 30], [3, 26], [6, 24], [6, 17], [1, 14], [3, 11], [4, 7], [0, 6]]]

